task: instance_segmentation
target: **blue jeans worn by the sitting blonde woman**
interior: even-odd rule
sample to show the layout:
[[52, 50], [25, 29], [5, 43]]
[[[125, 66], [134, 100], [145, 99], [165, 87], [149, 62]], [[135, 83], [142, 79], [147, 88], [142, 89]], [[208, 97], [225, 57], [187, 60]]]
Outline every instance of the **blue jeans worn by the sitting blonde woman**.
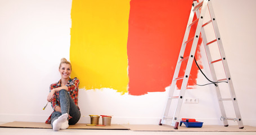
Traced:
[[62, 114], [68, 113], [72, 118], [69, 119], [69, 125], [74, 125], [80, 119], [81, 113], [77, 105], [69, 95], [69, 92], [65, 89], [61, 89], [59, 92], [59, 101], [61, 106], [61, 113], [59, 111], [54, 111], [51, 116], [51, 125], [54, 120], [58, 119]]

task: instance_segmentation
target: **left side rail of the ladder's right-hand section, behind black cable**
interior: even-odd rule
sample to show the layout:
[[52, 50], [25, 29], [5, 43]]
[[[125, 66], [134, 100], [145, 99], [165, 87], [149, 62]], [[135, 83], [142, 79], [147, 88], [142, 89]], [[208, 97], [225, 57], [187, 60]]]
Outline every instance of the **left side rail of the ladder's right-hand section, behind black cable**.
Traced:
[[[198, 17], [200, 15], [200, 13], [197, 11], [196, 15]], [[206, 57], [207, 57], [207, 60], [208, 60], [208, 65], [209, 65], [209, 68], [210, 68], [210, 73], [212, 75], [212, 79], [213, 79], [214, 82], [217, 82], [215, 69], [214, 69], [213, 64], [211, 64], [212, 56], [210, 55], [210, 50], [209, 50], [210, 45], [207, 45], [208, 40], [206, 38], [206, 33], [205, 33], [205, 30], [204, 30], [204, 27], [201, 29], [201, 36], [203, 38], [203, 44], [204, 44], [204, 48], [205, 48], [205, 52], [206, 52]], [[227, 117], [226, 116], [226, 111], [224, 109], [223, 101], [220, 100], [220, 99], [222, 99], [222, 96], [221, 96], [221, 91], [220, 91], [218, 86], [215, 87], [215, 91], [216, 91], [216, 95], [217, 95], [217, 99], [218, 99], [219, 109], [221, 110], [221, 115], [222, 115], [223, 118], [226, 118]], [[227, 122], [226, 119], [223, 119], [223, 124], [224, 124], [224, 126], [228, 125], [228, 122]]]

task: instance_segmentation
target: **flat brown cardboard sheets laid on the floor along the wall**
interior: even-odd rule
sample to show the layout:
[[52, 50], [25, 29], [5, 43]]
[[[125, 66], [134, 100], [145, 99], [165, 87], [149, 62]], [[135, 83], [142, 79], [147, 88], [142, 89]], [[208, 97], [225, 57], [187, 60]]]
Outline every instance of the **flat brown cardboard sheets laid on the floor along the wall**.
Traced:
[[[0, 128], [41, 128], [50, 129], [50, 124], [37, 122], [10, 122], [1, 124]], [[68, 129], [110, 129], [110, 130], [131, 130], [131, 131], [173, 131], [173, 132], [256, 132], [256, 127], [248, 125], [244, 129], [239, 129], [237, 125], [224, 127], [222, 125], [203, 125], [201, 128], [186, 128], [185, 125], [179, 126], [178, 129], [173, 129], [169, 125], [131, 125], [131, 124], [111, 124], [110, 126], [88, 126], [84, 123], [70, 125]]]

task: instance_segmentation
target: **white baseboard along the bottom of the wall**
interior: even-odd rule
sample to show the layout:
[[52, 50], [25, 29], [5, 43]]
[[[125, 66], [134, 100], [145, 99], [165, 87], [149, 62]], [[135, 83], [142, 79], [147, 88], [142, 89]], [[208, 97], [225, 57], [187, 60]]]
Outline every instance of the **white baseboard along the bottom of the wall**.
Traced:
[[[21, 114], [0, 114], [0, 122], [45, 122], [49, 115], [21, 115]], [[138, 118], [138, 117], [118, 117], [113, 116], [111, 123], [113, 124], [159, 124], [161, 118]], [[204, 125], [222, 125], [220, 119], [202, 119], [194, 118]], [[90, 123], [89, 116], [82, 116], [78, 123]], [[243, 119], [244, 125], [256, 127], [256, 119]], [[100, 122], [102, 119], [100, 118]], [[237, 122], [228, 121], [229, 125], [237, 125]]]

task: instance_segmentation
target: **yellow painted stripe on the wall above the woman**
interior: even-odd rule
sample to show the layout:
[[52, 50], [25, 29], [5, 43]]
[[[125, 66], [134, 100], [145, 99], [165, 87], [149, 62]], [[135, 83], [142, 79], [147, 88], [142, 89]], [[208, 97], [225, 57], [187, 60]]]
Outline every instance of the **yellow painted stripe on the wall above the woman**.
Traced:
[[71, 78], [80, 88], [127, 92], [127, 38], [130, 0], [73, 0]]

